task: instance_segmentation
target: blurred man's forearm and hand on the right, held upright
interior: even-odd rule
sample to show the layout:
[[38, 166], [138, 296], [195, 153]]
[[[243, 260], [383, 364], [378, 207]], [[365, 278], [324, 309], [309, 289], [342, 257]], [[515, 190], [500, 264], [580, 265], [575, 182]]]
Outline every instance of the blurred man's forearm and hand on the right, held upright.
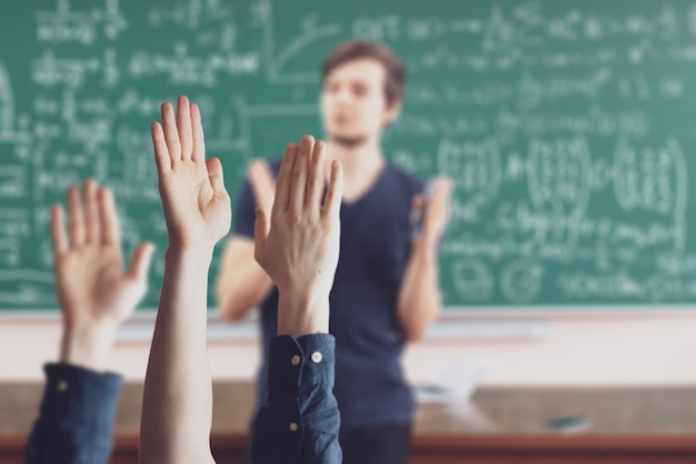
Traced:
[[[437, 246], [447, 224], [450, 190], [449, 180], [437, 181], [426, 209], [422, 230], [412, 244], [406, 265], [397, 303], [406, 342], [422, 339], [441, 309]], [[414, 208], [417, 212], [422, 211], [424, 204], [425, 199], [417, 198]]]

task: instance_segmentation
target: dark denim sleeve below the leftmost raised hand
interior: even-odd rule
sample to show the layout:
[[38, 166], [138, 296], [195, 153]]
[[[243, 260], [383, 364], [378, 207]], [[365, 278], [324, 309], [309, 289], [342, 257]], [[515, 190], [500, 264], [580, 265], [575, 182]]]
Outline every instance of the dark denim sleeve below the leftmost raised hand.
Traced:
[[106, 464], [123, 380], [70, 364], [46, 364], [46, 390], [27, 464]]

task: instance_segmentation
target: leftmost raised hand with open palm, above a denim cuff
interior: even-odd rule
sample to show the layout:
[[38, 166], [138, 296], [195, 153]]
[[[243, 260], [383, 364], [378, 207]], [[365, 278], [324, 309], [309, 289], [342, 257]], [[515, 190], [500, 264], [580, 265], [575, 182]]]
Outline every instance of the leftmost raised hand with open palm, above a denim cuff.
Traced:
[[[119, 324], [147, 291], [151, 243], [123, 268], [113, 195], [93, 180], [68, 190], [69, 233], [60, 204], [51, 210], [56, 291], [63, 315], [62, 362], [101, 369]], [[69, 240], [68, 240], [69, 235]], [[99, 339], [99, 340], [95, 340]]]

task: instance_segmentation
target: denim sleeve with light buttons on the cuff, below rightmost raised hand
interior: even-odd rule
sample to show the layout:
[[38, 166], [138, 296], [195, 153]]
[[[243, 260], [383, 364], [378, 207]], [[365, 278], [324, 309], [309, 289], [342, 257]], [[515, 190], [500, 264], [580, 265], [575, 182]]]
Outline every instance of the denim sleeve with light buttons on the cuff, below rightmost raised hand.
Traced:
[[255, 464], [340, 464], [332, 335], [270, 340], [268, 399], [253, 425]]

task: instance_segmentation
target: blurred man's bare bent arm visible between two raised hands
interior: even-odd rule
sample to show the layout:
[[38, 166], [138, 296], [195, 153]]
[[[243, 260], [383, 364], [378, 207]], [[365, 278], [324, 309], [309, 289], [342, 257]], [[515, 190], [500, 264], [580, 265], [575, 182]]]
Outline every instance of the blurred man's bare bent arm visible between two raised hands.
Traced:
[[253, 240], [237, 235], [228, 240], [216, 280], [222, 317], [239, 321], [268, 297], [274, 283], [253, 259]]

